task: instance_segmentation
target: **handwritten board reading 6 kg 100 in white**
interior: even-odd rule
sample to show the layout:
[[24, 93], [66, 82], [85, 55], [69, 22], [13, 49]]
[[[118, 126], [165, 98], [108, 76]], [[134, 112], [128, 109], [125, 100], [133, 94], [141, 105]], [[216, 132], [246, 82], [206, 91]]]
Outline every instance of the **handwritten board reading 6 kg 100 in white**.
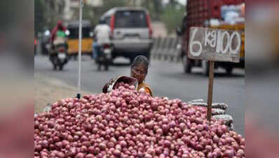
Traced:
[[191, 27], [189, 58], [239, 62], [241, 34], [238, 31]]

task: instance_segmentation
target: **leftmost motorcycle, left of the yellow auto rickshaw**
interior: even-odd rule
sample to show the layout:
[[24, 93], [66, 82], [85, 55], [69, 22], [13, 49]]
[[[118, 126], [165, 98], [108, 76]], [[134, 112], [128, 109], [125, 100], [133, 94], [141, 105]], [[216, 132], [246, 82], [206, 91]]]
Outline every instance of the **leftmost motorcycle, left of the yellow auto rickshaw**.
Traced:
[[53, 50], [50, 51], [50, 61], [53, 63], [53, 70], [56, 70], [57, 67], [59, 67], [59, 70], [63, 70], [68, 60], [69, 55], [67, 53], [66, 39], [55, 39], [53, 41]]

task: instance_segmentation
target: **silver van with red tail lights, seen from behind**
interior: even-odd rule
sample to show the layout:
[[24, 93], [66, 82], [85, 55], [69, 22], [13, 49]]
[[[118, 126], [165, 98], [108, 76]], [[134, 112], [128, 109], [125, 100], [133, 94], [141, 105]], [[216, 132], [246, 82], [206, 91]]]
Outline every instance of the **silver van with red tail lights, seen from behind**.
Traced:
[[150, 58], [153, 44], [149, 11], [145, 8], [111, 8], [101, 17], [111, 27], [112, 58], [123, 56], [131, 61], [137, 55]]

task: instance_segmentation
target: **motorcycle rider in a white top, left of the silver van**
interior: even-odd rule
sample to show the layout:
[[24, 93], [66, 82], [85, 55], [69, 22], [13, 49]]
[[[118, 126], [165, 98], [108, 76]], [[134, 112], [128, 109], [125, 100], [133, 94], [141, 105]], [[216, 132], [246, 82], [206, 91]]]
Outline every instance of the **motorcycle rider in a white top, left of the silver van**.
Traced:
[[110, 33], [111, 28], [106, 24], [105, 20], [100, 19], [99, 24], [94, 29], [93, 58], [97, 59], [100, 47], [103, 44], [110, 44]]

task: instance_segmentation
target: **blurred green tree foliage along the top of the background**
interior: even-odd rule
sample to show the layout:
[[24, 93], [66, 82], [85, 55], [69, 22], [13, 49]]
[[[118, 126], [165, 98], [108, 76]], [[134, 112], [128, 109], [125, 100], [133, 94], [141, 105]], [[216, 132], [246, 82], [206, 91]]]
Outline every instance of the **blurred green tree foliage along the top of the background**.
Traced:
[[[56, 0], [57, 1], [57, 0]], [[117, 6], [131, 6], [132, 0], [103, 0], [102, 6], [83, 6], [83, 20], [90, 20], [92, 25], [97, 25], [100, 17], [110, 8]], [[47, 5], [50, 4], [50, 7]], [[52, 5], [55, 1], [35, 0], [35, 33], [42, 32], [46, 28], [55, 27], [57, 20], [62, 20], [62, 14], [53, 11]], [[185, 6], [177, 3], [176, 0], [163, 4], [161, 0], [142, 0], [141, 6], [149, 10], [151, 20], [161, 20], [165, 23], [168, 32], [172, 33], [177, 25], [180, 25], [185, 12]], [[79, 8], [73, 8], [72, 20], [79, 20]]]

